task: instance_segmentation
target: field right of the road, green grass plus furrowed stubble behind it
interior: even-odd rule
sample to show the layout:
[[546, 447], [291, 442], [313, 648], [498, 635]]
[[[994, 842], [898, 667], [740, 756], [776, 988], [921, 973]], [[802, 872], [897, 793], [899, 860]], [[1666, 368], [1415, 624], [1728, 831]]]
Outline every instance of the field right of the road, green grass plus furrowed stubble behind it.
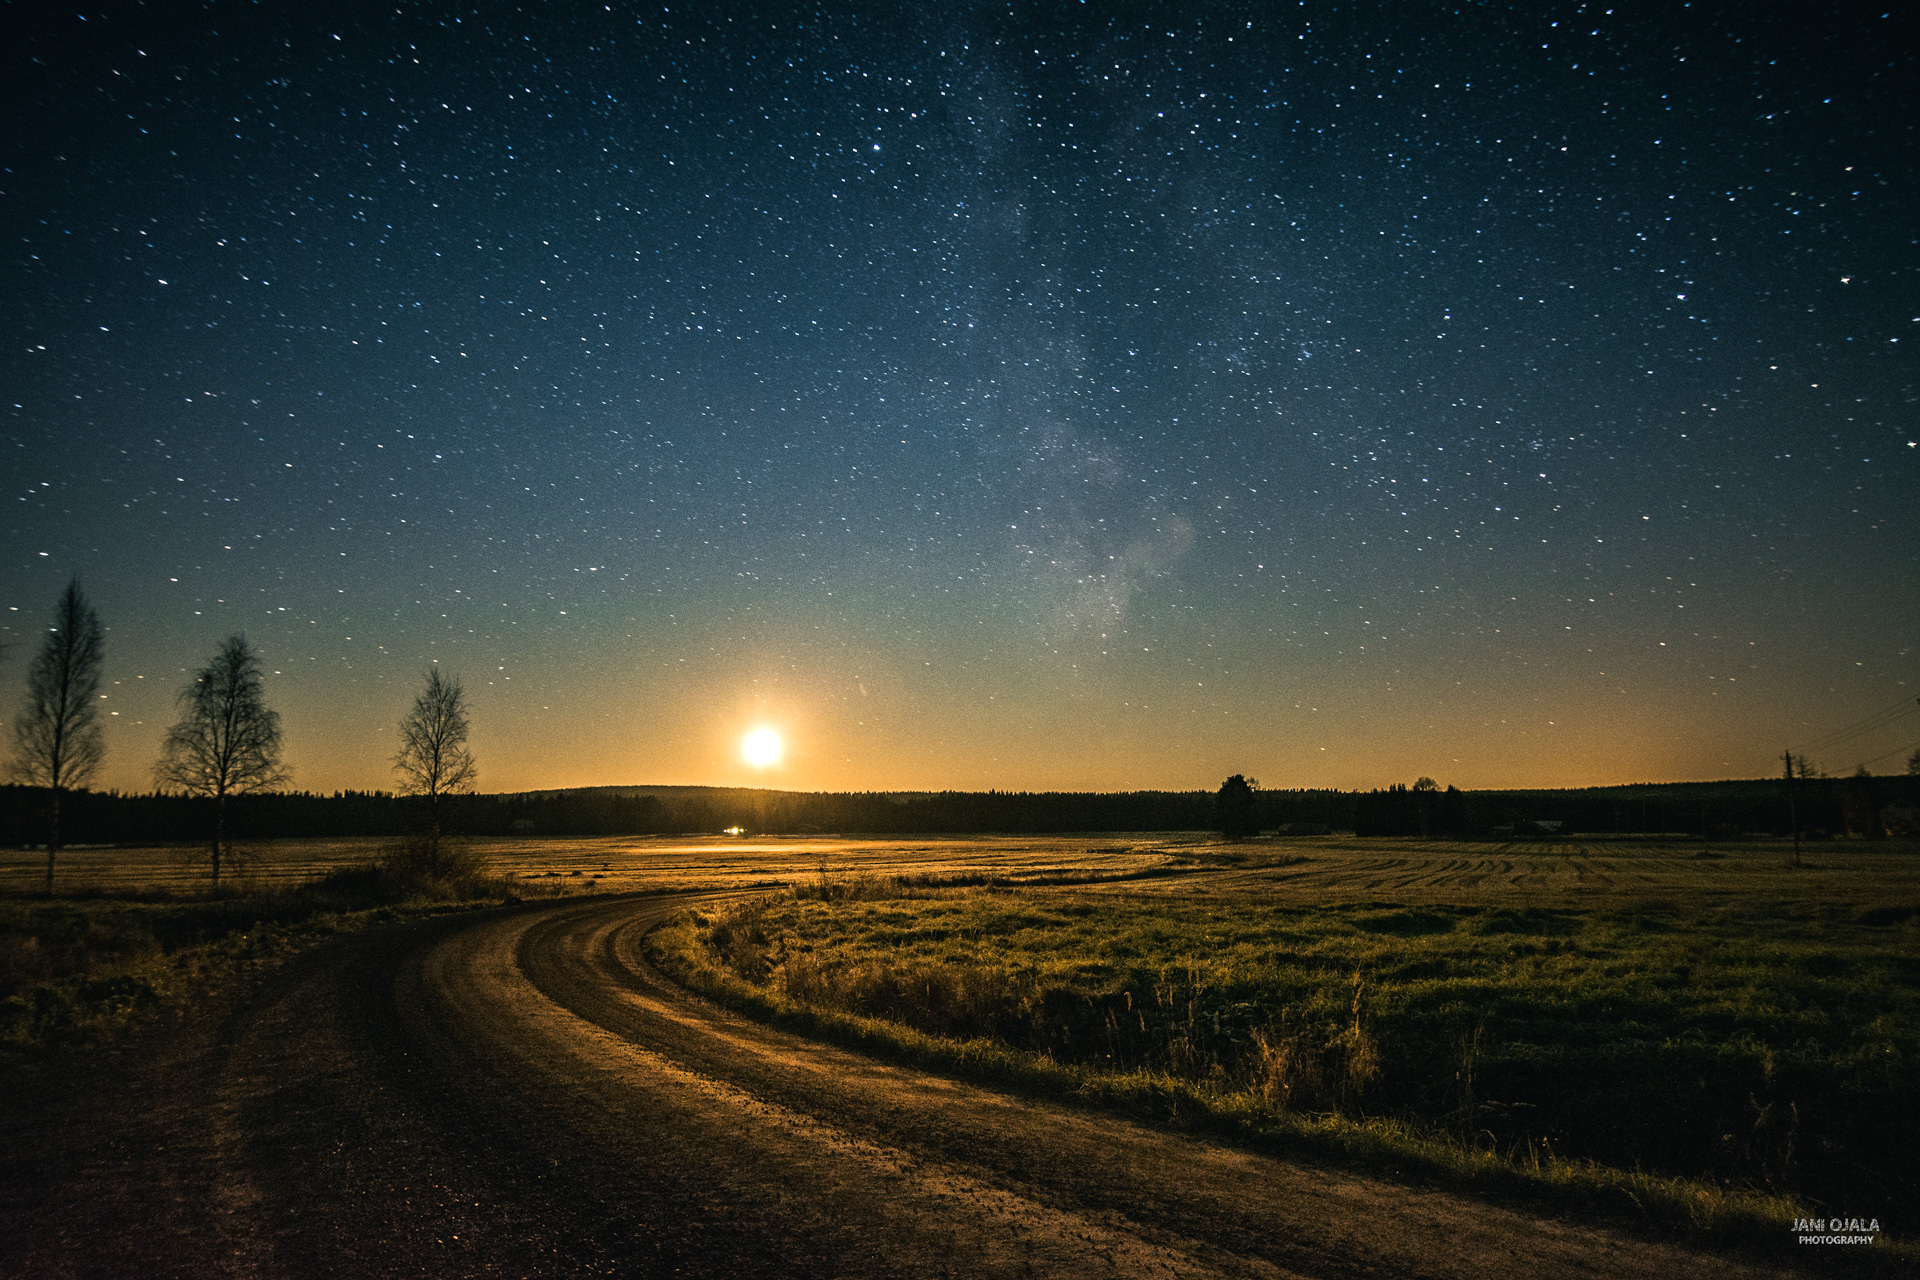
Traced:
[[824, 867], [657, 946], [735, 1004], [1089, 1098], [1549, 1180], [1615, 1171], [1682, 1215], [1726, 1192], [1920, 1209], [1920, 848], [1789, 867], [1782, 842], [1331, 837], [1133, 858], [1158, 875]]

